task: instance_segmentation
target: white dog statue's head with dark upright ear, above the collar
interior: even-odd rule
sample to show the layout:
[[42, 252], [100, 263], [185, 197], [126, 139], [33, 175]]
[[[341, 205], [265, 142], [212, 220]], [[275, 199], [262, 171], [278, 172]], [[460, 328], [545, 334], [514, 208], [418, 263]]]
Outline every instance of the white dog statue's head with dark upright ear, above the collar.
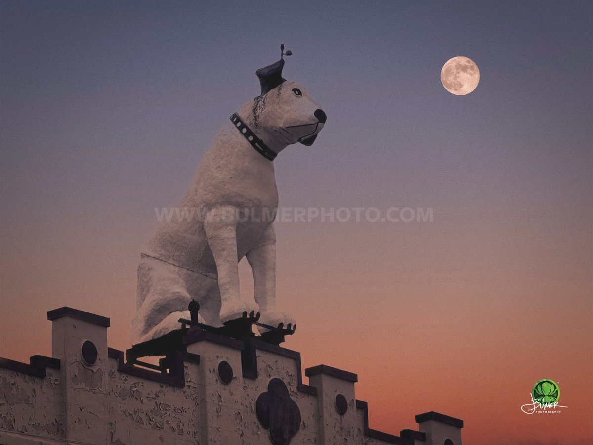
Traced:
[[[282, 56], [292, 54], [280, 48]], [[305, 87], [282, 78], [283, 66], [281, 58], [258, 69], [262, 94], [238, 110], [251, 131], [276, 153], [297, 142], [310, 147], [327, 120]]]

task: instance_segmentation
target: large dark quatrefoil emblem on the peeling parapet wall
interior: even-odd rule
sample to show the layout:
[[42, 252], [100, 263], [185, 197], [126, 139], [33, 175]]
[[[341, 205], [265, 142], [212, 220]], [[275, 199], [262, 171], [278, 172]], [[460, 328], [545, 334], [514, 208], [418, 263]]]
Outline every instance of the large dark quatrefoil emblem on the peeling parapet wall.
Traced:
[[259, 395], [256, 414], [262, 427], [270, 430], [274, 445], [288, 445], [301, 428], [301, 411], [280, 379], [270, 380], [267, 391]]

